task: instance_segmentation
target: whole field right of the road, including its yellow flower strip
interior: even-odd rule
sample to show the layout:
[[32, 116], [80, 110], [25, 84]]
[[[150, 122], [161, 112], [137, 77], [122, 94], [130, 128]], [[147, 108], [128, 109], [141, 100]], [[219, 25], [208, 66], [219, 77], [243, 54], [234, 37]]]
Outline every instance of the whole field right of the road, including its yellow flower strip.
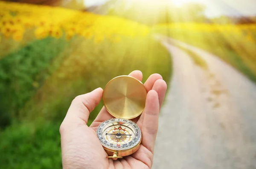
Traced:
[[217, 55], [256, 82], [256, 24], [170, 23], [152, 29]]

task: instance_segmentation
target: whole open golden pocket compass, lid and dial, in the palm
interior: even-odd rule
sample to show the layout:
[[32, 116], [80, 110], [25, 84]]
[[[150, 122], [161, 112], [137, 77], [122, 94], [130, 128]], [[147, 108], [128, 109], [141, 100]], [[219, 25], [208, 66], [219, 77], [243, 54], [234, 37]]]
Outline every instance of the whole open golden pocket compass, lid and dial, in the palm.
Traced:
[[96, 133], [109, 155], [107, 158], [116, 160], [140, 148], [140, 128], [129, 119], [143, 112], [146, 96], [143, 83], [131, 76], [115, 77], [105, 86], [102, 96], [104, 106], [116, 118], [102, 122]]

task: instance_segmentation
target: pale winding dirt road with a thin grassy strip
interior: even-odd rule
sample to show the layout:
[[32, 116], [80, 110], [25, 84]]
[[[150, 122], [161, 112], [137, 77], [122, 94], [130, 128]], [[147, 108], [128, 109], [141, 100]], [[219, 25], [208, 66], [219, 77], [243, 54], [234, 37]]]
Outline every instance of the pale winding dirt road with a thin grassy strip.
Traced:
[[[173, 74], [152, 168], [256, 169], [255, 83], [213, 54], [157, 38], [171, 54]], [[208, 69], [173, 43], [200, 55]]]

